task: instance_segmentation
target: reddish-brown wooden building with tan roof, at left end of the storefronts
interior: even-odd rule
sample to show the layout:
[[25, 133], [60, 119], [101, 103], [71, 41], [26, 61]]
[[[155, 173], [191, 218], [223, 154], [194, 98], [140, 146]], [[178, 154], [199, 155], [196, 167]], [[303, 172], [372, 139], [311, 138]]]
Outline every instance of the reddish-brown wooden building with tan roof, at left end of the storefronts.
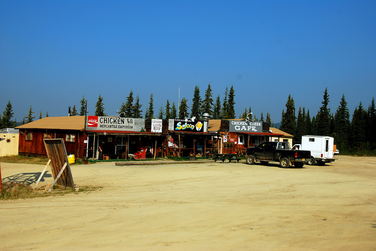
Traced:
[[76, 158], [86, 156], [85, 116], [46, 117], [22, 126], [19, 129], [18, 154], [47, 156], [44, 139], [64, 139], [68, 154]]

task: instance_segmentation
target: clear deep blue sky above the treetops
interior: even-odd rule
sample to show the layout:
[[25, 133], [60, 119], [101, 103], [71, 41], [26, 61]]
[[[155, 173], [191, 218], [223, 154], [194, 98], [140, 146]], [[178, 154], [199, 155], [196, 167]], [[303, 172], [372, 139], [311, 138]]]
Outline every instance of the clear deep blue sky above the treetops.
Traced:
[[213, 99], [231, 85], [244, 108], [280, 121], [288, 95], [317, 114], [344, 93], [350, 113], [376, 94], [375, 1], [4, 1], [0, 0], [0, 110], [21, 121], [66, 116], [99, 94], [116, 115], [132, 89], [155, 116], [167, 99]]

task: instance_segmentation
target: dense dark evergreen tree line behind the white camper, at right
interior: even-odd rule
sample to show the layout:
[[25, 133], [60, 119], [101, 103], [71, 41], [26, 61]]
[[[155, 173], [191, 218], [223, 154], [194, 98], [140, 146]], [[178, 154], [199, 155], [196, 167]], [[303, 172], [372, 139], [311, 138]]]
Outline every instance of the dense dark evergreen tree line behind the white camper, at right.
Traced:
[[296, 116], [294, 99], [288, 96], [286, 111], [282, 110], [280, 130], [294, 135], [293, 144], [299, 144], [303, 135], [318, 135], [334, 137], [334, 144], [342, 154], [375, 155], [376, 133], [374, 125], [376, 109], [374, 97], [368, 109], [359, 103], [353, 112], [350, 121], [350, 112], [347, 108], [345, 95], [342, 95], [340, 104], [333, 114], [328, 108], [329, 94], [325, 88], [323, 101], [317, 114], [310, 117], [309, 109], [299, 106]]

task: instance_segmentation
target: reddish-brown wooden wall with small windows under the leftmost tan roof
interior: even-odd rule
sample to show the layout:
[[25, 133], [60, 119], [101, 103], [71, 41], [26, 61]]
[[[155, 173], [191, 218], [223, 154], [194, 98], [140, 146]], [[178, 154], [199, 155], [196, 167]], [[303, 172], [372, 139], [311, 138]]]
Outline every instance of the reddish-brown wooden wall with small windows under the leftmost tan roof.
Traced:
[[[28, 140], [28, 133], [32, 133], [32, 139]], [[46, 149], [44, 147], [44, 137], [50, 139], [64, 139], [64, 145], [67, 153], [73, 153], [76, 158], [86, 157], [86, 152], [83, 148], [86, 148], [87, 135], [84, 131], [72, 131], [72, 130], [37, 130], [37, 129], [21, 129], [20, 137], [18, 140], [18, 154], [27, 156], [47, 156]], [[74, 135], [74, 142], [66, 141], [66, 135]], [[29, 134], [30, 135], [30, 134]]]

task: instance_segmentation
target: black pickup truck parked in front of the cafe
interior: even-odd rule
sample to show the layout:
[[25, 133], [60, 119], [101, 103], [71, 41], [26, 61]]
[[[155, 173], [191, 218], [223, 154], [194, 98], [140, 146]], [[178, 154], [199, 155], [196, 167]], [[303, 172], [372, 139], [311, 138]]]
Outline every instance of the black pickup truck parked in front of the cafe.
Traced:
[[289, 168], [290, 162], [295, 167], [303, 167], [311, 159], [310, 151], [291, 150], [288, 142], [264, 142], [258, 146], [246, 149], [247, 164], [256, 161], [267, 164], [269, 161], [279, 162], [282, 168]]

